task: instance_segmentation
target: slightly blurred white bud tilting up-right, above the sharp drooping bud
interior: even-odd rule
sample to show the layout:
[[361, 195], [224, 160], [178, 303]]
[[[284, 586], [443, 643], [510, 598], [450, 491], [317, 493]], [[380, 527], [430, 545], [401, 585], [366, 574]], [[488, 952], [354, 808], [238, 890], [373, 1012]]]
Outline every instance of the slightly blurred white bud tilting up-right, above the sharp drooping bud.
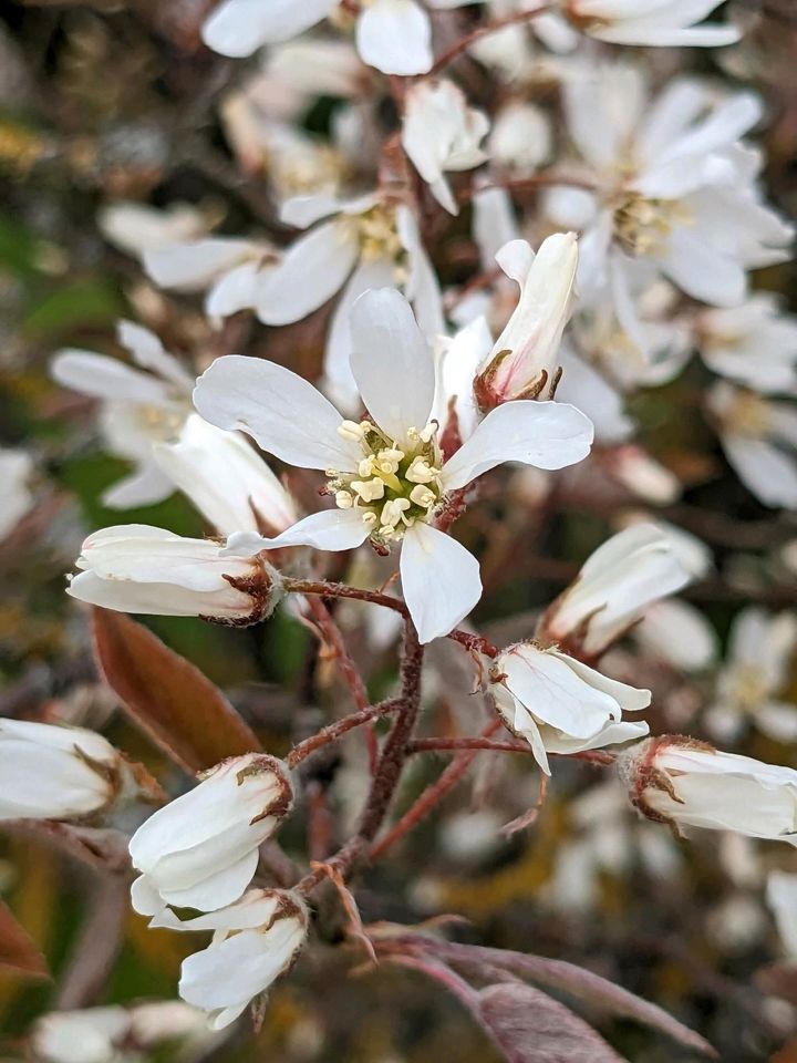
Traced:
[[635, 524], [612, 536], [581, 567], [548, 609], [545, 639], [580, 644], [598, 656], [642, 611], [691, 579], [670, 536], [654, 524]]

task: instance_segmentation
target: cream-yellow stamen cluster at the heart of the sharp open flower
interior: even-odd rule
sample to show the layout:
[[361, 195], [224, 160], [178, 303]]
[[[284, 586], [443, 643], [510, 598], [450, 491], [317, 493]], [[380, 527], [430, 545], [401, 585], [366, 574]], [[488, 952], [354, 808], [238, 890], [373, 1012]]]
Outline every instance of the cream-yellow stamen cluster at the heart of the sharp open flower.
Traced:
[[344, 421], [338, 429], [362, 447], [356, 473], [327, 469], [339, 509], [358, 509], [377, 543], [401, 539], [416, 520], [431, 520], [443, 497], [436, 423], [408, 429], [393, 440], [370, 421]]

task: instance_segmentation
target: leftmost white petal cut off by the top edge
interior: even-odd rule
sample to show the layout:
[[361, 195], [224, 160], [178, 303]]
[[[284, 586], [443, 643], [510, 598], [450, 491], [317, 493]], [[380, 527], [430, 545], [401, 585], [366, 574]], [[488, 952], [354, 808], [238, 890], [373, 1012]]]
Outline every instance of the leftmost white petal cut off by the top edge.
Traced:
[[203, 25], [203, 40], [221, 55], [240, 59], [261, 44], [277, 44], [309, 30], [338, 0], [226, 0]]

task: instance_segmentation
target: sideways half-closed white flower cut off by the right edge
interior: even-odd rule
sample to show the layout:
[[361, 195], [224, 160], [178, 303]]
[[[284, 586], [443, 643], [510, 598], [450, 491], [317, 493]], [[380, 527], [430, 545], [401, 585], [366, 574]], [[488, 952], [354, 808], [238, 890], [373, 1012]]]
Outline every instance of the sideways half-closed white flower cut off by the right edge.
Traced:
[[648, 739], [618, 762], [651, 819], [797, 845], [797, 772], [679, 735]]

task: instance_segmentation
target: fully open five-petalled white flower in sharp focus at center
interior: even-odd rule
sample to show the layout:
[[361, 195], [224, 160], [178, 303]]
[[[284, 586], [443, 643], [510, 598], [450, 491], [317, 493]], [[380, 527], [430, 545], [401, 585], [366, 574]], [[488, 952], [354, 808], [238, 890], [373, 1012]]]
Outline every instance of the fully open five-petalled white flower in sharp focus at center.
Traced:
[[482, 592], [476, 559], [434, 527], [446, 495], [504, 462], [562, 468], [581, 461], [592, 426], [561, 403], [506, 403], [443, 463], [429, 422], [434, 363], [406, 300], [392, 289], [369, 291], [351, 328], [351, 369], [371, 421], [345, 421], [306, 380], [266, 361], [222, 358], [199, 379], [194, 400], [203, 416], [249, 432], [289, 464], [324, 469], [337, 504], [276, 538], [232, 537], [229, 548], [402, 541], [404, 597], [428, 642], [451, 631]]

